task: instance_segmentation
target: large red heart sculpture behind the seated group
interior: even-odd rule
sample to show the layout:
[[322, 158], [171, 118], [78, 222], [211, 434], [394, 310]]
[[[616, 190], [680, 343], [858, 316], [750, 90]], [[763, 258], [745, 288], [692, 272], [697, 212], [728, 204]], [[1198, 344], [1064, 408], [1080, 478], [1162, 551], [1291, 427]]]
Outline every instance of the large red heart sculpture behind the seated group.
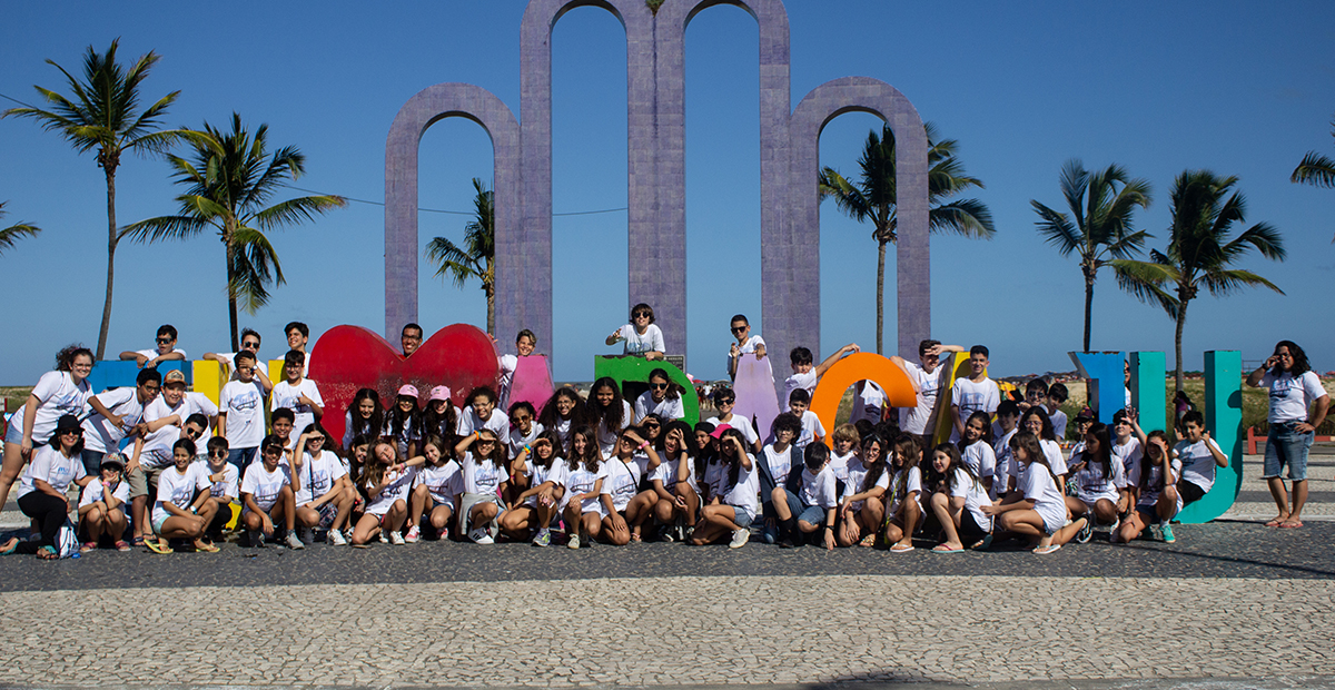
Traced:
[[405, 383], [417, 387], [421, 400], [434, 386], [449, 386], [458, 407], [478, 386], [495, 390], [501, 374], [491, 338], [466, 323], [441, 328], [407, 358], [376, 332], [335, 326], [315, 342], [307, 371], [320, 387], [320, 423], [334, 439], [343, 438], [343, 414], [359, 388], [375, 388], [390, 407]]

